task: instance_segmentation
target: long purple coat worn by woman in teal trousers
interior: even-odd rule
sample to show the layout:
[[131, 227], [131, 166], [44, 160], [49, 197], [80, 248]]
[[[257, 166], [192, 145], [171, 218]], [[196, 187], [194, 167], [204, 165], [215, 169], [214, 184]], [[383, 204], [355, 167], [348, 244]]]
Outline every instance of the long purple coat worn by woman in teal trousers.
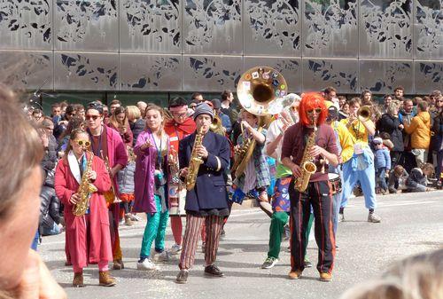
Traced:
[[[140, 146], [143, 146], [148, 139], [154, 144], [151, 131], [144, 130], [138, 135], [136, 146], [134, 146], [134, 153], [136, 153], [136, 174], [134, 177], [135, 201], [133, 211], [138, 213], [157, 212], [154, 201], [154, 170], [157, 149], [155, 146], [148, 147], [144, 150], [140, 149]], [[167, 146], [169, 147], [169, 142], [167, 142]], [[167, 165], [167, 161], [165, 161], [165, 165]], [[167, 176], [166, 173], [165, 176]]]

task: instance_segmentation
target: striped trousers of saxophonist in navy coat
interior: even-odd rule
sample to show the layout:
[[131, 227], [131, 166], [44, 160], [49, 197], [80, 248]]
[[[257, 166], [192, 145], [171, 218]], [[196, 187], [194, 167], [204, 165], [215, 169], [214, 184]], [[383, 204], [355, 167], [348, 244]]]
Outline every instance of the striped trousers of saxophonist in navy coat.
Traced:
[[180, 270], [190, 269], [194, 264], [198, 238], [203, 222], [206, 225], [206, 265], [214, 264], [219, 248], [220, 233], [223, 227], [223, 216], [195, 216], [186, 215], [186, 228], [184, 231], [182, 255], [180, 256]]

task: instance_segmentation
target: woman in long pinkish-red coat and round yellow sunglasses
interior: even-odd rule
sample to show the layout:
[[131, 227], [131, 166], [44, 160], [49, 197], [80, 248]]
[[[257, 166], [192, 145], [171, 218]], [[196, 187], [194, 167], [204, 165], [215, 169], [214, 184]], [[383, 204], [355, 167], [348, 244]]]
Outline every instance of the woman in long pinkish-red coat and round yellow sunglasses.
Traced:
[[[103, 193], [111, 188], [105, 163], [88, 152], [89, 134], [82, 129], [71, 132], [65, 157], [58, 162], [55, 175], [55, 190], [65, 205], [66, 244], [70, 262], [74, 269], [74, 287], [83, 287], [83, 268], [98, 264], [99, 284], [104, 287], [115, 285], [109, 275], [109, 261], [113, 260], [109, 216]], [[86, 172], [86, 173], [85, 173]], [[82, 199], [79, 186], [86, 176], [89, 184], [97, 189], [89, 194], [89, 203], [83, 216], [75, 216], [73, 209]]]

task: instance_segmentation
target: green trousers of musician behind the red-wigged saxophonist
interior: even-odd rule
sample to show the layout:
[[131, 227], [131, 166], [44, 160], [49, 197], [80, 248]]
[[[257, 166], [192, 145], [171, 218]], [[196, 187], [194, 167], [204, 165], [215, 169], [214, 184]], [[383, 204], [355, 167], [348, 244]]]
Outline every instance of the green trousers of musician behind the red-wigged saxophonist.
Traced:
[[[271, 217], [271, 226], [269, 227], [269, 251], [268, 257], [278, 258], [280, 255], [280, 245], [282, 243], [282, 235], [284, 233], [284, 224], [288, 222], [288, 213], [274, 212]], [[309, 240], [309, 233], [311, 232], [312, 223], [314, 222], [314, 215], [309, 216], [309, 223], [307, 224], [306, 240]], [[307, 242], [303, 244], [306, 256]]]

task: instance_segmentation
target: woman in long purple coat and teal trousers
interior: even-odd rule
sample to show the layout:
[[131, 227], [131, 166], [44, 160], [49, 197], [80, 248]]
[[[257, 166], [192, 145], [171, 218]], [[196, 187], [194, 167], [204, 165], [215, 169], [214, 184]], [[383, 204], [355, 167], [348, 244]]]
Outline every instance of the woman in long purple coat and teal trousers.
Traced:
[[150, 258], [152, 242], [155, 240], [154, 260], [166, 261], [165, 232], [167, 227], [167, 153], [169, 138], [163, 129], [163, 110], [156, 105], [146, 107], [146, 127], [138, 135], [135, 175], [135, 212], [146, 213], [148, 223], [144, 229], [138, 270], [156, 270]]

